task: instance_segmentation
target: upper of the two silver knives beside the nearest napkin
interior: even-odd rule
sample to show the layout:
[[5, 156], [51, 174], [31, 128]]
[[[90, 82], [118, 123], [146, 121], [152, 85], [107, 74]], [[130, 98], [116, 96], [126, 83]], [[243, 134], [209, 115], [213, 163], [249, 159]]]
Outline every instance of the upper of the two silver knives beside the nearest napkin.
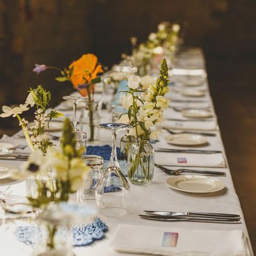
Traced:
[[158, 216], [208, 216], [219, 218], [240, 218], [238, 214], [219, 213], [219, 212], [170, 212], [170, 211], [147, 211], [144, 212]]

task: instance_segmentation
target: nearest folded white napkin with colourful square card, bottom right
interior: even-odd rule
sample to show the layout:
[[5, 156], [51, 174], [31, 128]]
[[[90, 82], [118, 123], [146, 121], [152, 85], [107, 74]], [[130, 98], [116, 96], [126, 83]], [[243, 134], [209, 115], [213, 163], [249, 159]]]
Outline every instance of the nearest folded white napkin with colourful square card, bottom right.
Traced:
[[111, 246], [118, 252], [153, 255], [250, 255], [243, 230], [187, 230], [118, 225]]

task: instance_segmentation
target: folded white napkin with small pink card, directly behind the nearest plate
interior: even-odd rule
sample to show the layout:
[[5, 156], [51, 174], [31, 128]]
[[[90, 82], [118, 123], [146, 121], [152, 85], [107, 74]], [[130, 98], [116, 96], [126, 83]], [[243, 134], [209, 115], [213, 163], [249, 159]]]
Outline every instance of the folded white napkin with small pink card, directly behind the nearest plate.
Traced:
[[196, 167], [225, 167], [226, 162], [222, 153], [191, 154], [155, 152], [157, 164], [169, 166], [196, 166]]

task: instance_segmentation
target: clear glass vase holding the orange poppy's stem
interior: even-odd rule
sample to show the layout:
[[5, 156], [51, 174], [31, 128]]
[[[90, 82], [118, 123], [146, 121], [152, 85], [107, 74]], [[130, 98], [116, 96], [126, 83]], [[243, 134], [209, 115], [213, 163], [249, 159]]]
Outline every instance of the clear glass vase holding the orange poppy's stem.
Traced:
[[99, 140], [100, 115], [99, 115], [99, 102], [86, 101], [85, 109], [82, 111], [79, 118], [80, 131], [85, 131], [88, 141]]

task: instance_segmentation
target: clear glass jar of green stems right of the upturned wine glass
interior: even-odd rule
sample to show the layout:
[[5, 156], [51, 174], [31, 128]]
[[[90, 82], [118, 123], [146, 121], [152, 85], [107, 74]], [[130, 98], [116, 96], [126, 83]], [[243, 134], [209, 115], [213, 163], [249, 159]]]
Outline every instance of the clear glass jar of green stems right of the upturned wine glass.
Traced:
[[147, 185], [154, 175], [154, 148], [148, 140], [132, 140], [128, 152], [128, 177], [133, 184]]

